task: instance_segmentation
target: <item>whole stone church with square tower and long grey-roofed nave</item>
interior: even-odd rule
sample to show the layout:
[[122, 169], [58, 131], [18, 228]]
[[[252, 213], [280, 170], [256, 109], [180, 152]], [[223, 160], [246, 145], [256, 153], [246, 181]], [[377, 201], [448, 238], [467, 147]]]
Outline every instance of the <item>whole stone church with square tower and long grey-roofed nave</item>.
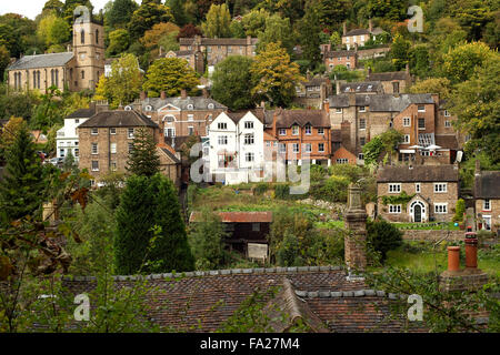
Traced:
[[104, 73], [104, 29], [90, 21], [74, 23], [72, 51], [24, 55], [7, 71], [16, 90], [93, 90]]

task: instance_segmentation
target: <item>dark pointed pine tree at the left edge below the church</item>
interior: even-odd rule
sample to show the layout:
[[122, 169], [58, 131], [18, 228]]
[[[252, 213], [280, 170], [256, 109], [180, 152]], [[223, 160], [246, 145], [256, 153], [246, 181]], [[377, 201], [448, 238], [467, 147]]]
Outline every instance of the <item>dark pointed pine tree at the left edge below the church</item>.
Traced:
[[8, 221], [33, 215], [43, 201], [40, 156], [26, 124], [7, 152], [7, 166], [0, 182], [0, 211]]

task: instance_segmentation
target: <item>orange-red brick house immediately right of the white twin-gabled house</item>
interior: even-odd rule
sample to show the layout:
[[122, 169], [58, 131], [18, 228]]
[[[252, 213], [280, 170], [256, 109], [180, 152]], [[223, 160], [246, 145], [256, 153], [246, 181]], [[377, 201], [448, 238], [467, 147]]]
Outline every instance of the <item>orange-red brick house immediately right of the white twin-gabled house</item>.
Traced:
[[301, 165], [302, 153], [311, 164], [330, 165], [331, 134], [328, 105], [323, 110], [276, 110], [266, 132], [278, 140], [278, 154]]

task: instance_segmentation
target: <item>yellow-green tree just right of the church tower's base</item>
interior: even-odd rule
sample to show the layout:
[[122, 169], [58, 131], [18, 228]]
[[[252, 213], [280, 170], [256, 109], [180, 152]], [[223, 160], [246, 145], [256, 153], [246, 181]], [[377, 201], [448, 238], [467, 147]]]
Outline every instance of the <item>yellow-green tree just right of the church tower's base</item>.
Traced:
[[139, 98], [142, 74], [133, 54], [122, 54], [111, 64], [109, 78], [102, 75], [96, 89], [96, 100], [108, 100], [111, 106], [124, 105]]

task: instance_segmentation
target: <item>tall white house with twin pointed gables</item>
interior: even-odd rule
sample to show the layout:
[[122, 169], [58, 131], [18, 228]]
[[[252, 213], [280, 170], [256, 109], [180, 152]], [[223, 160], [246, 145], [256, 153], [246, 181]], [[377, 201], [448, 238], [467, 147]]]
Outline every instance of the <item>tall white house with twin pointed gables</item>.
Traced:
[[263, 123], [251, 112], [220, 113], [209, 126], [212, 181], [224, 184], [263, 178]]

